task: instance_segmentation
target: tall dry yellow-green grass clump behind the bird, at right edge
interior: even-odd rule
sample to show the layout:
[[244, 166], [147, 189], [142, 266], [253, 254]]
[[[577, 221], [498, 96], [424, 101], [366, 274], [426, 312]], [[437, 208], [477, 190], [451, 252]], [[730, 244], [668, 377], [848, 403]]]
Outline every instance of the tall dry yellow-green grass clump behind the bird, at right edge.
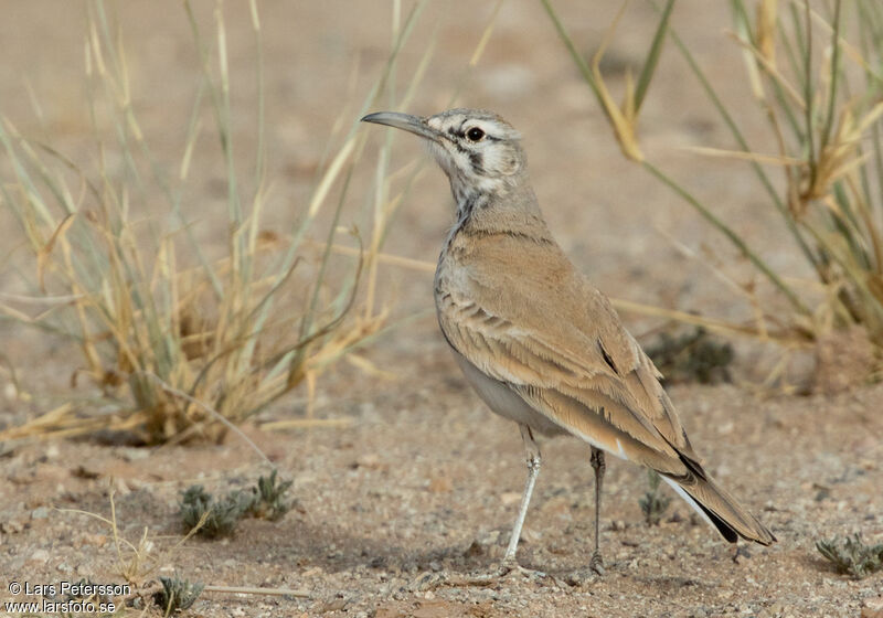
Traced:
[[[738, 284], [755, 317], [749, 324], [732, 324], [728, 330], [798, 345], [833, 328], [860, 324], [872, 342], [883, 345], [883, 11], [879, 2], [731, 2], [735, 23], [731, 38], [743, 51], [748, 73], [744, 83], [769, 127], [768, 142], [752, 145], [738, 115], [731, 111], [734, 104], [721, 98], [715, 76], [700, 66], [670, 24], [673, 0], [659, 8], [656, 36], [637, 81], [627, 75], [621, 105], [614, 103], [600, 71], [616, 24], [587, 63], [552, 3], [542, 1], [604, 109], [624, 156], [691, 204], [789, 307], [781, 311], [773, 297], [759, 294], [757, 281]], [[708, 95], [737, 148], [701, 152], [752, 167], [772, 207], [783, 217], [795, 251], [806, 258], [820, 286], [796, 283], [777, 271], [748, 238], [642, 152], [639, 113], [667, 42], [687, 62], [698, 90]], [[784, 183], [775, 182], [770, 167], [781, 172]]]

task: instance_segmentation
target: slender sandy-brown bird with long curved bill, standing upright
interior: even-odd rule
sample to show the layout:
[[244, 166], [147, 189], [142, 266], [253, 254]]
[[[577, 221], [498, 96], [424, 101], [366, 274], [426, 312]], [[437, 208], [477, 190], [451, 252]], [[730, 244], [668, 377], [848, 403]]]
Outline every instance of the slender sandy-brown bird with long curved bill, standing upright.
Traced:
[[[661, 373], [609, 299], [555, 242], [528, 174], [521, 135], [493, 111], [362, 118], [421, 137], [457, 206], [434, 278], [442, 333], [490, 409], [521, 431], [528, 478], [501, 566], [518, 567], [521, 529], [540, 473], [538, 435], [588, 443], [595, 543], [604, 572], [600, 502], [606, 454], [655, 470], [723, 537], [770, 545], [773, 533], [702, 466]], [[520, 568], [520, 567], [519, 567]]]

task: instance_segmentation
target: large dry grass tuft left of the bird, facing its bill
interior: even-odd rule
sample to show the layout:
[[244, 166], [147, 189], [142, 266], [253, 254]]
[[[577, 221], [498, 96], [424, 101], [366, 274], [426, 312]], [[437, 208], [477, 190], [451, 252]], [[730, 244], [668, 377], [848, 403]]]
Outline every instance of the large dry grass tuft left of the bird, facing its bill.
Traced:
[[[359, 110], [347, 109], [348, 122], [331, 138], [337, 150], [329, 148], [309, 203], [295, 206], [290, 230], [265, 228], [267, 152], [256, 2], [251, 25], [259, 87], [245, 111], [231, 103], [236, 83], [226, 63], [223, 10], [215, 11], [214, 35], [206, 36], [191, 4], [183, 3], [201, 68], [192, 84], [190, 120], [179, 121], [188, 129], [177, 166], [157, 158], [151, 141], [163, 136], [139, 121], [138, 85], [131, 83], [121, 26], [100, 0], [87, 7], [86, 107], [96, 168], [20, 134], [8, 118], [0, 121], [0, 149], [10, 162], [4, 167], [10, 175], [0, 179], [0, 202], [24, 239], [11, 256], [22, 262], [14, 273], [30, 295], [3, 296], [0, 316], [66, 338], [81, 353], [79, 367], [71, 367], [72, 384], [91, 382], [95, 388], [6, 428], [0, 440], [98, 429], [134, 433], [148, 444], [220, 439], [227, 427], [217, 423], [219, 415], [240, 422], [305, 381], [313, 393], [325, 369], [383, 326], [385, 311], [375, 308], [373, 286], [382, 239], [400, 200], [376, 192], [380, 203], [365, 205], [362, 216], [371, 226], [366, 251], [343, 247], [350, 255], [336, 257], [345, 236], [347, 170], [365, 139], [355, 130]], [[397, 33], [396, 51], [362, 109], [384, 92], [413, 17]], [[244, 150], [233, 154], [237, 114], [256, 115], [257, 146], [246, 160], [247, 173]], [[208, 146], [205, 126], [215, 127], [211, 137], [217, 149]], [[200, 195], [191, 169], [205, 159], [219, 161], [225, 174], [223, 228], [228, 234], [222, 248], [198, 241], [193, 228], [200, 209], [188, 203]], [[385, 161], [379, 158], [381, 182]], [[334, 189], [337, 204], [325, 212]], [[353, 230], [349, 237], [361, 244]], [[363, 271], [362, 300], [357, 286]], [[17, 307], [34, 301], [50, 308], [34, 315]]]

